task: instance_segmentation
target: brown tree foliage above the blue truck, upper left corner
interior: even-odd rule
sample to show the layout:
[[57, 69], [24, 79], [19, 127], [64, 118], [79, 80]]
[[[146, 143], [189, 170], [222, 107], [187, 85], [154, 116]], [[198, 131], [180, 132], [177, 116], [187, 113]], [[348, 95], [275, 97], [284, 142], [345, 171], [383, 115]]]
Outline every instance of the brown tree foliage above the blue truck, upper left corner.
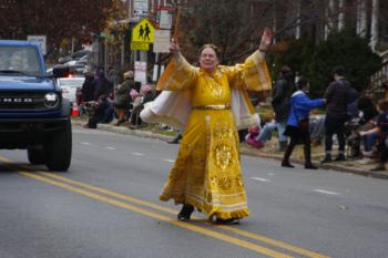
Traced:
[[120, 0], [2, 0], [0, 31], [6, 39], [25, 39], [30, 33], [48, 35], [50, 43], [63, 38], [90, 37], [102, 31], [120, 13]]

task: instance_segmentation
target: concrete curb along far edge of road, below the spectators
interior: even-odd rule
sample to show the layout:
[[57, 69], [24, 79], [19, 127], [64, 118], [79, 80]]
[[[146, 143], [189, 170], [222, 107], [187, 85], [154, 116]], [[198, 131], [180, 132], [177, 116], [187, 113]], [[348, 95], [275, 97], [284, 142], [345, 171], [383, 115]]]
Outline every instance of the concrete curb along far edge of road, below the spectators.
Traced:
[[[72, 124], [75, 126], [82, 126], [84, 122], [82, 121], [74, 121], [72, 120]], [[150, 131], [142, 131], [142, 130], [131, 130], [124, 126], [113, 126], [110, 124], [98, 124], [98, 130], [102, 130], [102, 131], [108, 131], [108, 132], [112, 132], [112, 133], [119, 133], [119, 134], [126, 134], [126, 135], [135, 135], [135, 136], [140, 136], [140, 137], [145, 137], [145, 138], [157, 138], [161, 141], [171, 141], [174, 137], [173, 136], [167, 136], [167, 135], [162, 135], [162, 134], [157, 134], [157, 133], [153, 133]], [[248, 147], [248, 146], [241, 146], [239, 148], [241, 154], [243, 155], [248, 155], [248, 156], [258, 156], [258, 157], [263, 157], [263, 158], [272, 158], [272, 159], [277, 159], [277, 161], [282, 161], [283, 155], [278, 155], [278, 154], [267, 154], [267, 153], [263, 153], [258, 149]], [[292, 159], [293, 163], [296, 164], [304, 164], [304, 161], [300, 159]], [[317, 161], [315, 161], [317, 162]], [[369, 172], [369, 171], [365, 171], [361, 168], [356, 168], [356, 167], [349, 167], [348, 165], [340, 165], [340, 164], [324, 164], [324, 165], [319, 165], [319, 168], [324, 168], [326, 171], [335, 171], [335, 172], [344, 172], [344, 173], [351, 173], [351, 174], [356, 174], [356, 175], [361, 175], [361, 176], [366, 176], [366, 177], [374, 177], [374, 178], [380, 178], [380, 179], [388, 179], [388, 171], [385, 172]]]

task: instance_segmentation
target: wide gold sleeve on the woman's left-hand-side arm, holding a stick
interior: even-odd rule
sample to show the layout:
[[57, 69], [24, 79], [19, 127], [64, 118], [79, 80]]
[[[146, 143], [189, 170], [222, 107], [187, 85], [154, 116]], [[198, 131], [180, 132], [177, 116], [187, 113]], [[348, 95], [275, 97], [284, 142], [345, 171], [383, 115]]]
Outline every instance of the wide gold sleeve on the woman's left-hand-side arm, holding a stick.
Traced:
[[181, 91], [190, 89], [197, 76], [198, 70], [191, 65], [185, 58], [178, 53], [174, 56], [156, 84], [157, 91]]

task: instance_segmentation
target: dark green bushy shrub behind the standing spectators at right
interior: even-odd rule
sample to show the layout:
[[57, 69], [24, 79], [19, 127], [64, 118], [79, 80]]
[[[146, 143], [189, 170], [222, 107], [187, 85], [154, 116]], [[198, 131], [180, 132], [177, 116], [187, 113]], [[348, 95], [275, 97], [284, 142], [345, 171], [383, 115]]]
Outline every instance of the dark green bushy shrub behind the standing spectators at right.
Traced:
[[369, 86], [370, 75], [381, 68], [381, 58], [370, 50], [368, 41], [348, 30], [330, 34], [318, 45], [306, 40], [284, 40], [274, 45], [267, 59], [274, 80], [282, 65], [289, 65], [309, 79], [315, 97], [325, 93], [336, 65], [345, 66], [346, 78], [359, 92]]

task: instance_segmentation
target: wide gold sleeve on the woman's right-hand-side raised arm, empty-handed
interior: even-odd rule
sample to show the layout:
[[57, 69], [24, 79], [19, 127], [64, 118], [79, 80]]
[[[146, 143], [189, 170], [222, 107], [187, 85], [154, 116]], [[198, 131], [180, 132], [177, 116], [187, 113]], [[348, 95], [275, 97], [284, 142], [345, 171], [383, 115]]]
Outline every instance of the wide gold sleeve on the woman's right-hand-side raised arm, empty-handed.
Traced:
[[226, 69], [229, 84], [237, 90], [268, 91], [272, 89], [270, 75], [264, 55], [258, 50], [244, 63]]

